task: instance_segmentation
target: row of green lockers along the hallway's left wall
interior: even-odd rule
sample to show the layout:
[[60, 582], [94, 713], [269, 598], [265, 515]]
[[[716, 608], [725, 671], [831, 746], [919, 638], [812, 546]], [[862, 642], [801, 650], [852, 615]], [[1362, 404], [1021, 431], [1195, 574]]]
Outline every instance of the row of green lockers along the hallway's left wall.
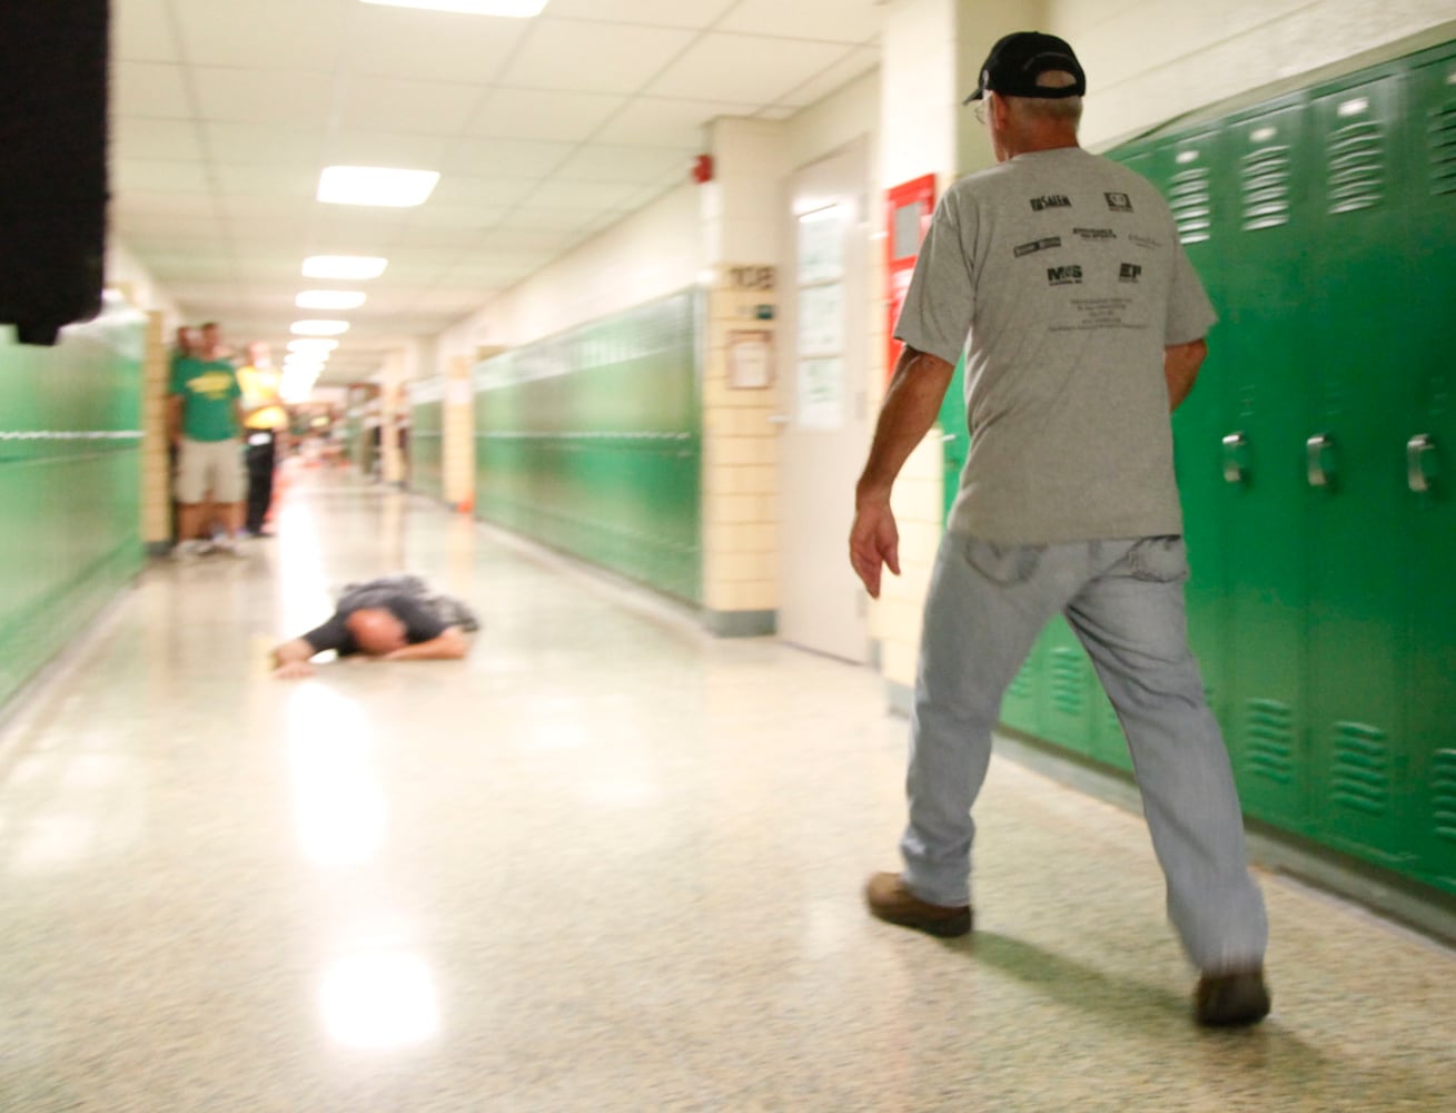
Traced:
[[115, 304], [54, 348], [0, 326], [0, 704], [144, 562], [144, 329]]

